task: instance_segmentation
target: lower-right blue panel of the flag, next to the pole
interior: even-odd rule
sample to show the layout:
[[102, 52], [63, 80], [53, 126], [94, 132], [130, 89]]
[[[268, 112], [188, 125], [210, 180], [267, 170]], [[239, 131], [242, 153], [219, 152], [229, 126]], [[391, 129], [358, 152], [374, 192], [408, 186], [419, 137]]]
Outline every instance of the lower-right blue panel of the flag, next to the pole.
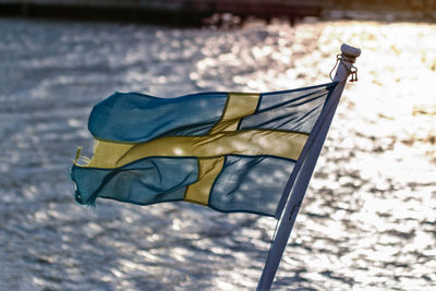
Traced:
[[270, 156], [227, 156], [210, 192], [209, 207], [274, 217], [294, 165]]

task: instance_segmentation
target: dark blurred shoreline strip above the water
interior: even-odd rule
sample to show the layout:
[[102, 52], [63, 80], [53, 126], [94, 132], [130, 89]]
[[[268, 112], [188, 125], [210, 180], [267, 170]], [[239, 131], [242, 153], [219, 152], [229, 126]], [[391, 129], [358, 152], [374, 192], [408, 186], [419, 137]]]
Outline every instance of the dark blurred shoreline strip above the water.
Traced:
[[[141, 1], [138, 1], [140, 3]], [[246, 2], [246, 1], [245, 1]], [[38, 1], [0, 2], [0, 17], [25, 17], [73, 21], [109, 21], [146, 23], [181, 27], [204, 25], [240, 25], [255, 17], [267, 23], [272, 19], [283, 19], [291, 25], [310, 16], [318, 20], [364, 20], [364, 21], [411, 21], [436, 22], [436, 8], [389, 9], [386, 7], [354, 7], [347, 10], [331, 4], [250, 4], [244, 1], [179, 1], [178, 5], [162, 4], [105, 4], [104, 2], [50, 3]]]

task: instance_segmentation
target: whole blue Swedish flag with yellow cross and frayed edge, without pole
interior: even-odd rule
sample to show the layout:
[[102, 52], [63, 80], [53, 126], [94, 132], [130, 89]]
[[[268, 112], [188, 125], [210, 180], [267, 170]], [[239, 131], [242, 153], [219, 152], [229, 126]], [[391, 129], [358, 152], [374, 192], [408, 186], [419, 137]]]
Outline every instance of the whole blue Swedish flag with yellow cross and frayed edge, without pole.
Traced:
[[175, 98], [116, 93], [89, 116], [94, 156], [77, 153], [72, 166], [75, 201], [184, 201], [278, 218], [289, 178], [336, 85]]

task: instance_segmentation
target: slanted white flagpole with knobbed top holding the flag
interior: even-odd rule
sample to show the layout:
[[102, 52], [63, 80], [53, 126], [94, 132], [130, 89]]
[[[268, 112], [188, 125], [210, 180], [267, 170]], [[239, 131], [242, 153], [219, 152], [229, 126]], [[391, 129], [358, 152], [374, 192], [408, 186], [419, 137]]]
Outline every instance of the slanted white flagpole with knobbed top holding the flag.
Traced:
[[313, 141], [311, 148], [307, 150], [307, 154], [304, 157], [302, 167], [294, 181], [294, 185], [292, 186], [290, 198], [286, 205], [284, 213], [281, 216], [276, 238], [272, 242], [264, 270], [258, 281], [256, 289], [257, 291], [269, 290], [272, 284], [277, 268], [280, 264], [281, 256], [283, 255], [284, 247], [291, 234], [296, 215], [299, 214], [300, 206], [303, 202], [313, 170], [346, 86], [347, 78], [350, 74], [352, 74], [351, 81], [356, 81], [356, 70], [353, 66], [353, 63], [361, 54], [361, 50], [348, 45], [342, 45], [341, 52], [342, 53], [338, 56], [339, 66], [334, 78], [334, 82], [338, 82], [338, 85], [326, 104], [324, 109], [326, 110], [326, 114], [324, 116], [323, 123], [318, 129], [318, 133], [315, 135], [315, 140]]

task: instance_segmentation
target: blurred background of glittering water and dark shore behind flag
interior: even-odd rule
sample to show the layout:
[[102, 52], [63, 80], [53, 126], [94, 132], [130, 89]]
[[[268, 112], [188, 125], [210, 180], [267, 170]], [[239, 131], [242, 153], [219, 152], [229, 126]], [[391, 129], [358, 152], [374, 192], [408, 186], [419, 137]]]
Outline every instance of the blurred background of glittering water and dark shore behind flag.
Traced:
[[362, 49], [274, 290], [436, 289], [436, 1], [0, 0], [0, 290], [254, 290], [272, 218], [73, 201], [87, 118], [329, 82]]

